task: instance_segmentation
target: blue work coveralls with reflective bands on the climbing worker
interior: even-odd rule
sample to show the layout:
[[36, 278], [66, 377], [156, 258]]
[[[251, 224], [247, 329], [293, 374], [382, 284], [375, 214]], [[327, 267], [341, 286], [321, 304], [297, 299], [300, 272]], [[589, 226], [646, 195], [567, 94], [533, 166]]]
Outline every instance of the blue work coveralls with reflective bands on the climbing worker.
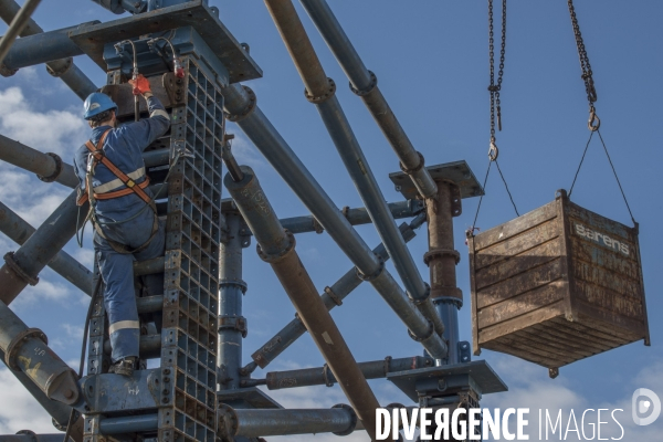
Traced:
[[[146, 179], [143, 150], [158, 137], [162, 136], [170, 127], [170, 118], [158, 98], [151, 96], [147, 99], [150, 117], [138, 123], [128, 123], [113, 129], [110, 126], [95, 127], [90, 138], [94, 146], [102, 135], [110, 129], [104, 141], [105, 156], [119, 170], [128, 175], [138, 185]], [[85, 175], [87, 170], [90, 150], [82, 146], [74, 156], [74, 169], [81, 189], [85, 189]], [[126, 187], [103, 164], [95, 167], [93, 186], [95, 192], [122, 190]], [[115, 181], [115, 182], [113, 182]], [[107, 185], [105, 187], [102, 187]], [[117, 185], [117, 186], [116, 186]], [[145, 192], [152, 197], [149, 189]], [[140, 212], [140, 213], [139, 213]], [[130, 249], [143, 245], [151, 235], [156, 213], [136, 193], [107, 200], [96, 200], [96, 218], [101, 221], [104, 234], [112, 241], [125, 244]], [[137, 213], [139, 213], [137, 215]], [[134, 218], [135, 217], [135, 218]], [[133, 218], [133, 219], [131, 219]], [[106, 222], [120, 222], [104, 224]], [[108, 242], [94, 232], [94, 250], [99, 265], [102, 278], [106, 285], [104, 305], [108, 315], [108, 333], [113, 348], [112, 360], [135, 356], [138, 357], [139, 322], [134, 291], [134, 261], [145, 261], [164, 255], [165, 224], [159, 222], [159, 231], [143, 251], [134, 254], [116, 252]], [[145, 277], [148, 295], [164, 293], [164, 276], [148, 275]]]

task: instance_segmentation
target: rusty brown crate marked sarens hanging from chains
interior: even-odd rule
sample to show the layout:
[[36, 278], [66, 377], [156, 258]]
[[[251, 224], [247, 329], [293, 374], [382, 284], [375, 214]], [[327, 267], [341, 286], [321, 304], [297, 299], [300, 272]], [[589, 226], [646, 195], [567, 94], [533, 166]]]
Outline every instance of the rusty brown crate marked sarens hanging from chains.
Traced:
[[636, 228], [555, 201], [469, 238], [474, 354], [550, 369], [644, 339]]

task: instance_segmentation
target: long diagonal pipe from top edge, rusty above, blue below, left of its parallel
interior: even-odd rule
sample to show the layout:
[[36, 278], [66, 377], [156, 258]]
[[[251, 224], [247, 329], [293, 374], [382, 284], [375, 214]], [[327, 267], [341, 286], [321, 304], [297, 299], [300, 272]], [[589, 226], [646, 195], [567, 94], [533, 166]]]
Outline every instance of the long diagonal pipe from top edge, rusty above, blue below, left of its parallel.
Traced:
[[423, 316], [433, 323], [435, 332], [442, 335], [444, 324], [430, 301], [430, 287], [422, 280], [410, 251], [398, 233], [385, 196], [335, 95], [336, 85], [327, 78], [297, 11], [291, 0], [264, 1], [302, 76], [306, 98], [317, 107], [408, 295]]

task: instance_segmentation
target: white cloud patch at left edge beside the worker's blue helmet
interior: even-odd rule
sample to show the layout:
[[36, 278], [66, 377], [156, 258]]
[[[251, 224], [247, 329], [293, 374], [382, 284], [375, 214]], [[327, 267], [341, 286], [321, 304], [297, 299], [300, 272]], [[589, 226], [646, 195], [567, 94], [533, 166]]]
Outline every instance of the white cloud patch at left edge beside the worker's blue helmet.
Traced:
[[70, 162], [88, 130], [82, 116], [73, 112], [35, 109], [20, 87], [0, 91], [0, 133], [9, 138], [55, 152]]

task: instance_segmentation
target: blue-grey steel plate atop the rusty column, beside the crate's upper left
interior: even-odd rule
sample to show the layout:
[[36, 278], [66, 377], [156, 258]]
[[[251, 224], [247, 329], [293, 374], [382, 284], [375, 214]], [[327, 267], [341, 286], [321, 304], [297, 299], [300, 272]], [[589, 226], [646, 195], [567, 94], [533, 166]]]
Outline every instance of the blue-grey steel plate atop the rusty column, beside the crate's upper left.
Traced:
[[[454, 182], [461, 189], [461, 198], [481, 197], [484, 194], [481, 183], [464, 160], [429, 166], [427, 170], [435, 181], [446, 180]], [[396, 185], [396, 191], [401, 192], [406, 199], [412, 200], [419, 197], [419, 191], [407, 173], [389, 173], [389, 179]]]

